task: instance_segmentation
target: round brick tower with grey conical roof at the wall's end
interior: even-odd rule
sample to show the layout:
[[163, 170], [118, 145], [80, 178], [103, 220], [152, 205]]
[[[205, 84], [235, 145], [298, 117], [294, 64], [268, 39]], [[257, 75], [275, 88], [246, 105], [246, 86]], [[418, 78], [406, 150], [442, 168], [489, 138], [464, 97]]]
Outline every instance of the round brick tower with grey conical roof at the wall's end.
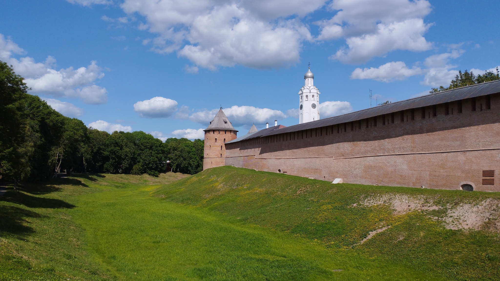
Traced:
[[203, 170], [224, 166], [224, 143], [235, 139], [237, 131], [232, 127], [231, 122], [227, 120], [222, 107], [210, 122], [210, 125], [203, 131], [205, 132]]

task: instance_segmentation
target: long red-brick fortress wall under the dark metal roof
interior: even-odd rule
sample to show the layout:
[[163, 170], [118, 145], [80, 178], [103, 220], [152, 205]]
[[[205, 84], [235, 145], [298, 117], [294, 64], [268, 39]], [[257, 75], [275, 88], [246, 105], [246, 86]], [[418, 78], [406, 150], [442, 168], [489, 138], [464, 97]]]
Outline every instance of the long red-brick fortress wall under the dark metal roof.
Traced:
[[[332, 181], [459, 189], [470, 182], [474, 190], [500, 191], [500, 96], [485, 97], [377, 116], [359, 122], [342, 123], [317, 129], [277, 134], [226, 145], [225, 165], [261, 171], [286, 172], [301, 177]], [[482, 106], [482, 110], [481, 110]], [[429, 118], [430, 114], [430, 118]], [[406, 119], [407, 118], [407, 119]], [[388, 123], [387, 123], [388, 119]], [[352, 128], [352, 131], [351, 131]], [[346, 130], [345, 130], [346, 129]], [[338, 133], [337, 133], [338, 131]], [[482, 185], [483, 170], [495, 170], [495, 184]]]

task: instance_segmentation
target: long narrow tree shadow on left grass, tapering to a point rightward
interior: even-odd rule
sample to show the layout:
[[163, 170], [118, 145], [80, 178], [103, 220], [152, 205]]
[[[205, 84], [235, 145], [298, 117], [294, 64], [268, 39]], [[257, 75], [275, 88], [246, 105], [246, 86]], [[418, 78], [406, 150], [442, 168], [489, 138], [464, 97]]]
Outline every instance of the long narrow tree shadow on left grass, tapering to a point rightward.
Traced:
[[13, 190], [7, 190], [7, 192], [5, 192], [2, 197], [0, 197], [0, 201], [19, 204], [28, 208], [72, 209], [76, 207], [60, 199], [36, 197]]

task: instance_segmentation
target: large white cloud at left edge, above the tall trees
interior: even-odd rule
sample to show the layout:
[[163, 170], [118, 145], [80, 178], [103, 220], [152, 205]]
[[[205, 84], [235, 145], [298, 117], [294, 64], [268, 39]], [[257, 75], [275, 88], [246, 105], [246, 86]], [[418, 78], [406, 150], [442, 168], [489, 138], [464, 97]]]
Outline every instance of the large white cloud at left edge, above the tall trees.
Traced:
[[24, 82], [31, 87], [31, 93], [43, 93], [53, 97], [80, 98], [89, 104], [100, 104], [107, 101], [107, 91], [94, 85], [95, 80], [104, 76], [96, 61], [91, 61], [87, 67], [53, 69], [55, 59], [47, 56], [43, 63], [35, 62], [32, 57], [16, 59], [14, 54], [24, 54], [25, 51], [11, 39], [0, 34], [0, 60], [11, 64], [14, 71], [21, 75]]

